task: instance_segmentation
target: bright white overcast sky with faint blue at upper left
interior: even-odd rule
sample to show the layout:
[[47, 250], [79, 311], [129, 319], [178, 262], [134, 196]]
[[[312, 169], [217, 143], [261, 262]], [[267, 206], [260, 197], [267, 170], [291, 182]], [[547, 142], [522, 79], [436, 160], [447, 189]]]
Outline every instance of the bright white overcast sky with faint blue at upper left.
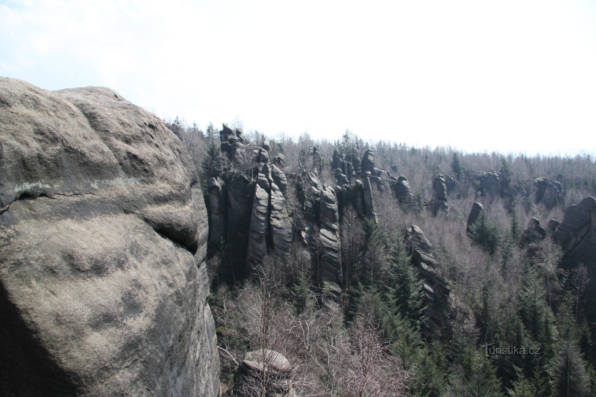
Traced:
[[596, 153], [594, 0], [0, 0], [0, 76], [203, 129]]

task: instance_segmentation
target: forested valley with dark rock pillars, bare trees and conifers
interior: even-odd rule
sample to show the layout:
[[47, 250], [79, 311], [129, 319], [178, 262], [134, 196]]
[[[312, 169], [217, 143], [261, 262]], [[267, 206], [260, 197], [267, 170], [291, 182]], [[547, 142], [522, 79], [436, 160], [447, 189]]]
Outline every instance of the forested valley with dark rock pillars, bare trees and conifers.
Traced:
[[224, 395], [596, 395], [589, 155], [167, 126], [207, 203]]

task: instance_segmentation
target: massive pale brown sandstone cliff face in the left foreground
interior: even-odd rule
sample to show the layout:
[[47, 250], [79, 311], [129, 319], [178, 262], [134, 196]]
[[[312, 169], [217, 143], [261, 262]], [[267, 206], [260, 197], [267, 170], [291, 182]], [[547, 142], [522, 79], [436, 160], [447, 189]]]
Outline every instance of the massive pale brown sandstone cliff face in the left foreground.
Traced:
[[193, 163], [107, 88], [0, 78], [0, 394], [219, 392]]

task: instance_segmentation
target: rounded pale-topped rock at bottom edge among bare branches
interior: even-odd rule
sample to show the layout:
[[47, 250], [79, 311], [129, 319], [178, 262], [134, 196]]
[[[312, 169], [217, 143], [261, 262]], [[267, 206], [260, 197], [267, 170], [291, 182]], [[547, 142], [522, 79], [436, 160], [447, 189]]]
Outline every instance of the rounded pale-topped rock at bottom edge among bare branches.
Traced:
[[234, 397], [294, 397], [290, 378], [290, 361], [281, 353], [267, 349], [247, 352], [234, 374]]

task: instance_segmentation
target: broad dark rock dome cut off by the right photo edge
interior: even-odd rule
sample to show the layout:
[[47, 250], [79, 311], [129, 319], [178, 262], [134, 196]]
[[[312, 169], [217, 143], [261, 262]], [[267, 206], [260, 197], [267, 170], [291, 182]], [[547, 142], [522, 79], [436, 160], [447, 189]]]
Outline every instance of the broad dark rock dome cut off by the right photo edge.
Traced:
[[554, 231], [555, 241], [563, 249], [568, 263], [596, 265], [596, 198], [586, 197], [565, 210], [563, 222]]

